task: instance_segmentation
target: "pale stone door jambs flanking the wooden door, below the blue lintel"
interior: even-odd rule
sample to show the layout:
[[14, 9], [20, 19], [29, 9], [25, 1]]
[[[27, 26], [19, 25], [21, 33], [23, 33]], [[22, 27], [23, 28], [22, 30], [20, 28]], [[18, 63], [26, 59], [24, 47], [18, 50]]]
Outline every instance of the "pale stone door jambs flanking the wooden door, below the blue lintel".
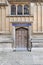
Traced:
[[[15, 23], [12, 23], [12, 24], [15, 24]], [[19, 26], [18, 26], [19, 27]], [[28, 30], [29, 30], [29, 39], [28, 39], [28, 49], [27, 50], [31, 50], [31, 38], [32, 38], [32, 25], [29, 25], [29, 26], [23, 26], [24, 28], [28, 27]], [[12, 44], [12, 48], [13, 50], [16, 50], [15, 48], [15, 29], [16, 29], [16, 26], [12, 26], [12, 35], [13, 35], [13, 44]]]

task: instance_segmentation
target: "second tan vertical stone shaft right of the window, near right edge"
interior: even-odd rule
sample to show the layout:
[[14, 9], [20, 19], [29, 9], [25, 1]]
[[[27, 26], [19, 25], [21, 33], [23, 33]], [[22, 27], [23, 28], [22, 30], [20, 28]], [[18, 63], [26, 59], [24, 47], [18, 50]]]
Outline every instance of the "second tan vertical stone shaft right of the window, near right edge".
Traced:
[[38, 32], [41, 32], [42, 29], [42, 12], [41, 4], [38, 4]]

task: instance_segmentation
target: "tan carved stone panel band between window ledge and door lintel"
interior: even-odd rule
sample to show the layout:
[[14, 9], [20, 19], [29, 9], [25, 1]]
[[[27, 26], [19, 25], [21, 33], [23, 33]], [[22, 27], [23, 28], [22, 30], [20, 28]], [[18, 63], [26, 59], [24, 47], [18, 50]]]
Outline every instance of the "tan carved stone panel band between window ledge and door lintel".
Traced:
[[10, 22], [20, 22], [21, 23], [25, 22], [25, 23], [29, 23], [29, 22], [33, 22], [33, 16], [7, 16], [10, 20]]

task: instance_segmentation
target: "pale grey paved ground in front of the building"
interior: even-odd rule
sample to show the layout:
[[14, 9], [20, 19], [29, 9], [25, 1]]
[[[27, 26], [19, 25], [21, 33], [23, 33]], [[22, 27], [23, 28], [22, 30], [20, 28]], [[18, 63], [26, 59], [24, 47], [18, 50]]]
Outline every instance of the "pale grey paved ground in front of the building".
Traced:
[[1, 51], [0, 65], [43, 65], [43, 51]]

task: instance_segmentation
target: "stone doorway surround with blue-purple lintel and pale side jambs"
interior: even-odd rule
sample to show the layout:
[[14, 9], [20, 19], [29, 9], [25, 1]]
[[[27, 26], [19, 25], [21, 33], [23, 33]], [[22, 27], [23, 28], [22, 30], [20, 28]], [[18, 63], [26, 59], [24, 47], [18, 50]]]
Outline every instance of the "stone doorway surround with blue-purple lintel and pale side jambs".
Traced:
[[[16, 24], [16, 25], [15, 25]], [[26, 25], [24, 25], [24, 26], [22, 26], [22, 25], [18, 25], [18, 24], [28, 24], [28, 26], [26, 26]], [[32, 22], [30, 22], [30, 23], [18, 23], [18, 22], [16, 22], [16, 23], [14, 23], [14, 22], [12, 22], [12, 35], [13, 35], [13, 40], [14, 40], [14, 42], [13, 42], [13, 45], [12, 45], [12, 47], [13, 47], [13, 50], [16, 50], [16, 48], [15, 48], [15, 29], [16, 29], [16, 26], [17, 27], [28, 27], [28, 30], [29, 30], [29, 33], [28, 33], [28, 35], [29, 35], [29, 38], [28, 38], [28, 50], [30, 51], [31, 50], [31, 46], [32, 46], [32, 44], [31, 44], [31, 38], [32, 38]]]

